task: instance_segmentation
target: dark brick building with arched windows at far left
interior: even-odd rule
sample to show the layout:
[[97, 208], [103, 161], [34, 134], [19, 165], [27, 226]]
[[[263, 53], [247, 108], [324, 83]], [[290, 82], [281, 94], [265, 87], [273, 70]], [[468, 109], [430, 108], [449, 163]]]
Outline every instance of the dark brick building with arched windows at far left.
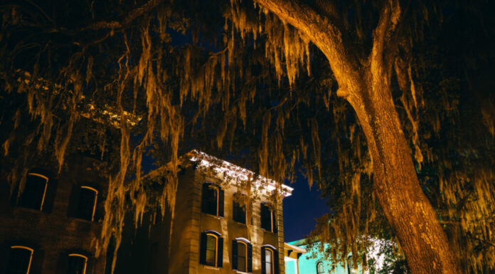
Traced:
[[95, 258], [92, 244], [101, 233], [107, 179], [92, 169], [95, 159], [66, 162], [60, 174], [43, 163], [29, 169], [21, 191], [2, 174], [0, 273], [105, 272], [105, 252]]

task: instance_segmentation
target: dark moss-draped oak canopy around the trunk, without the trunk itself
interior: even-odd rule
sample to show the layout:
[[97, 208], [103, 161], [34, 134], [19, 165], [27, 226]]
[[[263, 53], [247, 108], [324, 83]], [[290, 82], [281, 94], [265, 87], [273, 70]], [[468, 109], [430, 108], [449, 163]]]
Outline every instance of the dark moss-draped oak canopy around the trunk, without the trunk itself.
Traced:
[[[329, 197], [331, 214], [316, 233], [331, 243], [335, 262], [366, 251], [363, 236], [394, 238], [373, 192], [376, 162], [363, 125], [341, 98], [347, 67], [369, 62], [386, 5], [304, 3], [306, 14], [332, 22], [326, 31], [341, 30], [340, 41], [319, 43], [356, 53], [336, 68], [305, 33], [311, 29], [294, 28], [265, 2], [1, 4], [2, 174], [22, 185], [33, 159], [48, 154], [61, 169], [73, 150], [114, 159], [105, 167], [110, 185], [98, 244], [114, 236], [118, 247], [129, 204], [136, 221], [144, 204], [174, 206], [176, 174], [161, 195], [147, 194], [142, 154], [176, 168], [178, 154], [197, 148], [245, 160], [277, 181], [302, 167]], [[404, 1], [390, 10], [383, 56], [422, 191], [469, 273], [495, 265], [489, 6]], [[102, 136], [108, 141], [97, 142]]]

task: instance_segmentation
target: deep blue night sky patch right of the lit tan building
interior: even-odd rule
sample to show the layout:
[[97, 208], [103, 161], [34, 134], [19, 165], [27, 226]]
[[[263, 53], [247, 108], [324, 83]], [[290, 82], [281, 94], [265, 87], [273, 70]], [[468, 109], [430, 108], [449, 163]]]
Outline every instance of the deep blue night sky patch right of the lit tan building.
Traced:
[[320, 199], [316, 186], [309, 189], [307, 179], [299, 176], [290, 185], [294, 188], [292, 196], [284, 199], [284, 238], [286, 242], [296, 241], [309, 235], [316, 224], [315, 218], [329, 212], [325, 201]]

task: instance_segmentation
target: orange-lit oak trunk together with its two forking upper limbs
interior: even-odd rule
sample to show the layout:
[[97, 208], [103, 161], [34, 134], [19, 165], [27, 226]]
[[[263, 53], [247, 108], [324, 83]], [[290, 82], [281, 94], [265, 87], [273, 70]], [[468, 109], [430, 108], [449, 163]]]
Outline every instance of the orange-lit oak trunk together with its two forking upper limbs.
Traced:
[[337, 94], [351, 103], [366, 135], [373, 159], [374, 191], [412, 273], [461, 273], [447, 236], [420, 188], [390, 92], [396, 52], [390, 48], [391, 33], [400, 19], [398, 1], [388, 1], [380, 14], [366, 65], [348, 51], [351, 47], [346, 46], [345, 37], [331, 19], [295, 1], [257, 3], [308, 36], [329, 60], [339, 83]]

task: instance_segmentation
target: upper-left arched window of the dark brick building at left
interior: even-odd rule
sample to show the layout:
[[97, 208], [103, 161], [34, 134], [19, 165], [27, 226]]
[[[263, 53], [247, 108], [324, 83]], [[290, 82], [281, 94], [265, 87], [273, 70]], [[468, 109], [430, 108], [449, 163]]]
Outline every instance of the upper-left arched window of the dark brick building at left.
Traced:
[[37, 173], [28, 173], [26, 184], [24, 184], [24, 189], [18, 205], [28, 209], [42, 210], [47, 186], [47, 176]]

